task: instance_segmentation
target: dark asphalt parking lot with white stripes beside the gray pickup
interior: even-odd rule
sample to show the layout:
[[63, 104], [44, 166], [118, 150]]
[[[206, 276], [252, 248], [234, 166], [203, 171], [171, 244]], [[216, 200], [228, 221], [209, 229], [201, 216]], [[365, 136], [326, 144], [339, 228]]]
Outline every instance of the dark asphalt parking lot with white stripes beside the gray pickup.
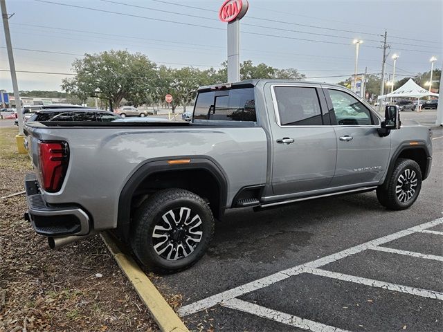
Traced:
[[443, 129], [412, 208], [374, 192], [228, 212], [208, 254], [158, 286], [193, 331], [443, 331]]

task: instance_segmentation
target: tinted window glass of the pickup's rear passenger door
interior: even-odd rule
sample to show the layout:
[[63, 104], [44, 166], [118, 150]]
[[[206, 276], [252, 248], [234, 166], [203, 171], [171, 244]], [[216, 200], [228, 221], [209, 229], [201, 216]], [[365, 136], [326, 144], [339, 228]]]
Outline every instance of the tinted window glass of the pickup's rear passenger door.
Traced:
[[280, 125], [322, 125], [322, 114], [316, 88], [297, 86], [275, 86]]

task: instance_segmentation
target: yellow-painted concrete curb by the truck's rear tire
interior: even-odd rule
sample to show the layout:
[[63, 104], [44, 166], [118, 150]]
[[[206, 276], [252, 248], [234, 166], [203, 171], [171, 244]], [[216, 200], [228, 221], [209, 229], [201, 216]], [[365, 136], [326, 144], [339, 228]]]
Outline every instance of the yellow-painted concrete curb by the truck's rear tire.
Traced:
[[143, 273], [136, 261], [134, 261], [132, 257], [125, 255], [118, 247], [118, 243], [116, 243], [109, 234], [101, 232], [100, 237], [102, 237], [103, 242], [105, 242], [109, 252], [111, 252], [127, 279], [129, 279], [132, 286], [134, 286], [138, 296], [147, 307], [147, 310], [150, 311], [161, 331], [189, 332], [177, 313], [172, 310], [168, 302], [166, 302], [154, 284], [152, 284], [150, 279]]

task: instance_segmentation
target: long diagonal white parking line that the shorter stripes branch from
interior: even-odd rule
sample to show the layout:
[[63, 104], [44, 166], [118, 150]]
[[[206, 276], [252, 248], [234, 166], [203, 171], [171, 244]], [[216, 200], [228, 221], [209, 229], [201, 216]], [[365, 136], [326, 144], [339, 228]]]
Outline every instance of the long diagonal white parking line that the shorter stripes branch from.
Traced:
[[177, 310], [177, 313], [179, 313], [181, 317], [190, 315], [192, 313], [197, 313], [199, 311], [215, 306], [221, 302], [226, 302], [228, 299], [233, 299], [234, 297], [239, 297], [252, 291], [257, 291], [260, 288], [271, 286], [276, 282], [281, 282], [282, 280], [289, 277], [299, 275], [300, 273], [305, 272], [305, 268], [319, 268], [320, 266], [333, 263], [334, 261], [338, 261], [339, 259], [355, 255], [364, 250], [374, 248], [375, 246], [380, 246], [384, 243], [400, 239], [401, 237], [406, 237], [407, 235], [413, 234], [415, 232], [421, 232], [422, 230], [426, 230], [426, 228], [431, 228], [436, 225], [440, 225], [441, 223], [443, 223], [443, 218], [428, 221], [427, 223], [422, 223], [421, 225], [417, 225], [406, 230], [401, 230], [393, 234], [388, 234], [385, 237], [380, 237], [379, 239], [374, 239], [372, 241], [359, 244], [358, 246], [342, 250], [341, 252], [336, 252], [335, 254], [325, 256], [305, 264], [300, 264], [298, 266], [294, 266], [293, 268], [288, 268], [287, 270], [282, 270], [280, 272], [274, 273], [273, 275], [254, 280], [253, 282], [248, 282], [247, 284], [231, 288], [228, 291], [224, 291], [210, 297], [200, 299], [199, 301], [193, 302], [186, 306], [182, 306]]

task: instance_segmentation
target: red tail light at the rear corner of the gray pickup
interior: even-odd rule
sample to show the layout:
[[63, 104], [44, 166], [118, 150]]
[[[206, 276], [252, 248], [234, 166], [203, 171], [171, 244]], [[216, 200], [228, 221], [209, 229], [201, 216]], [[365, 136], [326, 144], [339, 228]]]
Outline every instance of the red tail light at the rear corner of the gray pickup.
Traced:
[[66, 142], [39, 142], [39, 171], [43, 189], [58, 192], [62, 187], [69, 163], [69, 148]]

